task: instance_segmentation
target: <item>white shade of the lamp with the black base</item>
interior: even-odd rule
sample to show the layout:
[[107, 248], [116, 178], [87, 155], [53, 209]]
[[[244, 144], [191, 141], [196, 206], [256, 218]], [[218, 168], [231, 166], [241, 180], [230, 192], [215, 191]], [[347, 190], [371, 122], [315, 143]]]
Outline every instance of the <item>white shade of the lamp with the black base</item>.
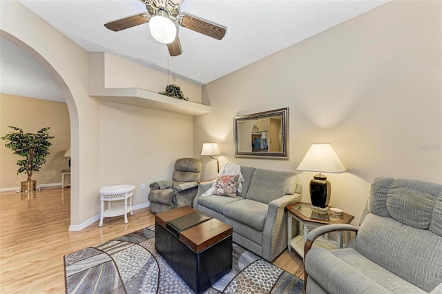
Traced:
[[346, 170], [330, 144], [312, 144], [296, 169], [320, 173], [343, 173]]

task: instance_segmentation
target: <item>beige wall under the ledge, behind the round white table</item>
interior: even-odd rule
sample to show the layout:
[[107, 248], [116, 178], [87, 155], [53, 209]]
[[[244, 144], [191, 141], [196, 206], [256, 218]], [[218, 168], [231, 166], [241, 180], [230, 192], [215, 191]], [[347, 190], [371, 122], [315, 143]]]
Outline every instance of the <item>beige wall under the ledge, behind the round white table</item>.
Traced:
[[149, 184], [171, 179], [177, 158], [192, 157], [190, 115], [101, 102], [99, 126], [99, 185], [135, 185], [134, 205], [148, 202]]

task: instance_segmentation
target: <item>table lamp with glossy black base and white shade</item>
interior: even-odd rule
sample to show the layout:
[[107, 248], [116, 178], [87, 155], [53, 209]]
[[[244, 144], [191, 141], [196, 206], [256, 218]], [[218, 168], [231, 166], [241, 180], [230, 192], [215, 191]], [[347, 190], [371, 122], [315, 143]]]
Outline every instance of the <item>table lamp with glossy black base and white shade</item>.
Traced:
[[311, 206], [327, 213], [332, 187], [322, 173], [343, 173], [345, 167], [330, 144], [311, 144], [297, 170], [319, 172], [310, 182]]

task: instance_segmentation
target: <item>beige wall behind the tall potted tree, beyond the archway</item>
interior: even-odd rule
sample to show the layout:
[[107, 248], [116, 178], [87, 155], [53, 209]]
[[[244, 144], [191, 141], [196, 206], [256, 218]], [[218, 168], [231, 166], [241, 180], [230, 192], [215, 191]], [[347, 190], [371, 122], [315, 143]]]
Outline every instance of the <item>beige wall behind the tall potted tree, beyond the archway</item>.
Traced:
[[[50, 142], [50, 154], [46, 164], [32, 175], [37, 185], [61, 182], [62, 169], [68, 168], [68, 158], [63, 157], [70, 145], [70, 122], [66, 103], [0, 94], [0, 137], [12, 131], [8, 126], [22, 128], [24, 133], [37, 133], [41, 128], [50, 127], [49, 133], [54, 136]], [[17, 175], [17, 160], [23, 159], [14, 155], [0, 145], [0, 189], [19, 187], [27, 179], [26, 173]]]

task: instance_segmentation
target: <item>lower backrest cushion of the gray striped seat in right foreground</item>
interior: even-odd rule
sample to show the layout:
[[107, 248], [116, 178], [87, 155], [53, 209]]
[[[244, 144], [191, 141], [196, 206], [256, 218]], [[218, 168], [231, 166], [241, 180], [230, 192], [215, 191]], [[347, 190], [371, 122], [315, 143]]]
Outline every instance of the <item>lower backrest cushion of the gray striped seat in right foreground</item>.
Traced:
[[379, 266], [430, 292], [442, 282], [441, 237], [405, 226], [391, 217], [369, 213], [354, 249]]

